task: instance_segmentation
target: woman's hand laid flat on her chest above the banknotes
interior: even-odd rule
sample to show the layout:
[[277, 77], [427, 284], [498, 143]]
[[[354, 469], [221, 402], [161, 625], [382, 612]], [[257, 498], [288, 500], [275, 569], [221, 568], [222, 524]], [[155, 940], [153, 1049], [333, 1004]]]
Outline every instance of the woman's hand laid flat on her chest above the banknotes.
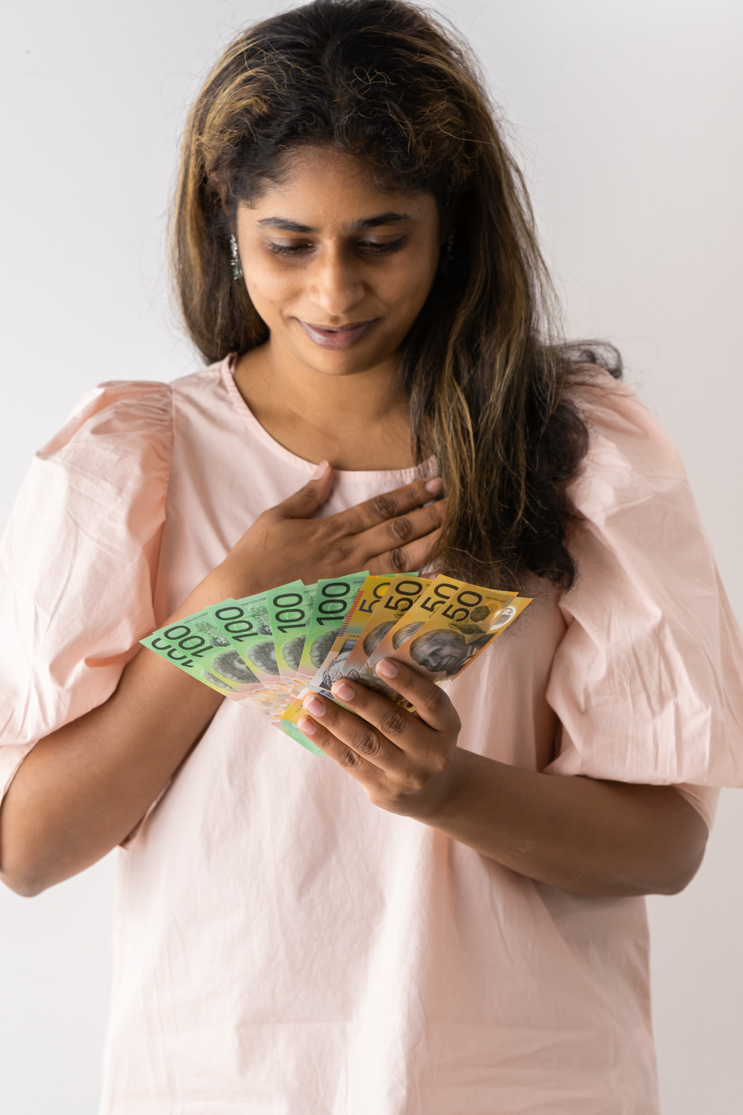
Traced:
[[402, 573], [424, 564], [443, 517], [443, 501], [432, 502], [441, 491], [440, 478], [414, 481], [348, 511], [313, 518], [333, 487], [333, 469], [323, 465], [317, 478], [264, 511], [209, 574], [209, 602], [239, 599], [296, 578], [312, 584], [352, 570]]

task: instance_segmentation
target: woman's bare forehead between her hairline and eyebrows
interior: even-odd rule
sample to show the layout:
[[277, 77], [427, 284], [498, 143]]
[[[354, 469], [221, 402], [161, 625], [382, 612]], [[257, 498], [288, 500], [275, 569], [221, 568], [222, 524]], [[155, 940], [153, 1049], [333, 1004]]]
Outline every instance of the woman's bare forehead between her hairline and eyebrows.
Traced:
[[432, 194], [379, 182], [360, 156], [329, 147], [301, 147], [284, 162], [277, 181], [266, 181], [257, 196], [241, 203], [256, 221], [277, 216], [303, 224], [348, 224], [364, 216], [397, 214], [411, 221], [436, 220]]

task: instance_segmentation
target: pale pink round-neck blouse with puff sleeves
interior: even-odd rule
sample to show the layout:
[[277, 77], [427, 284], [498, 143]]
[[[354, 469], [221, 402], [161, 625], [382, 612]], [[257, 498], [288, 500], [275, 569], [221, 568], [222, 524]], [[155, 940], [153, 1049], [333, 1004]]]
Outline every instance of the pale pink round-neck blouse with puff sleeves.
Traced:
[[[555, 776], [743, 784], [743, 649], [674, 447], [578, 389], [570, 592], [542, 588], [450, 689], [471, 750]], [[37, 455], [0, 547], [0, 786], [105, 701], [314, 465], [229, 361], [104, 384]], [[322, 514], [413, 476], [339, 473]], [[642, 899], [535, 883], [224, 701], [118, 852], [101, 1115], [652, 1115]]]

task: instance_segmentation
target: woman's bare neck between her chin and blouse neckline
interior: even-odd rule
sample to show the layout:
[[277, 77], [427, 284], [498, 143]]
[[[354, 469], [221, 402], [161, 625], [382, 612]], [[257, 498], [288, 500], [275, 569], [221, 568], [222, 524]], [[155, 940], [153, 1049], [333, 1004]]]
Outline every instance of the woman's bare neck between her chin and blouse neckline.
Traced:
[[241, 357], [235, 382], [264, 429], [306, 460], [326, 459], [349, 472], [413, 463], [397, 357], [354, 375], [331, 376], [270, 339]]

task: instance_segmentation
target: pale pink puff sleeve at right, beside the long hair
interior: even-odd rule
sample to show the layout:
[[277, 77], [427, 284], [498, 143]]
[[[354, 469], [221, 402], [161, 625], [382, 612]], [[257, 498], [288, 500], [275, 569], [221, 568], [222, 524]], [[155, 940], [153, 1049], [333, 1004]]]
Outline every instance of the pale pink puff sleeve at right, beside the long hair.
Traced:
[[[743, 785], [743, 647], [673, 444], [597, 372], [578, 405], [590, 443], [571, 485], [576, 585], [547, 700], [554, 774]], [[697, 806], [698, 807], [698, 806]]]

